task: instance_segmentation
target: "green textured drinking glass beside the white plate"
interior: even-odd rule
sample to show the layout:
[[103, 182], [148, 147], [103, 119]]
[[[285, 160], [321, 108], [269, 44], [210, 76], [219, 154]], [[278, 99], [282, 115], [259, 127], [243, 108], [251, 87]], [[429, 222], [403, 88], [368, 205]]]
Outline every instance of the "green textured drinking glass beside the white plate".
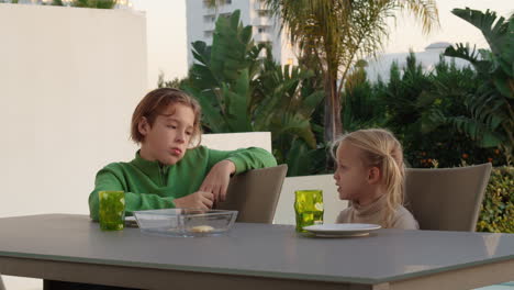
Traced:
[[323, 223], [323, 191], [320, 189], [294, 191], [297, 232], [306, 232], [304, 226]]

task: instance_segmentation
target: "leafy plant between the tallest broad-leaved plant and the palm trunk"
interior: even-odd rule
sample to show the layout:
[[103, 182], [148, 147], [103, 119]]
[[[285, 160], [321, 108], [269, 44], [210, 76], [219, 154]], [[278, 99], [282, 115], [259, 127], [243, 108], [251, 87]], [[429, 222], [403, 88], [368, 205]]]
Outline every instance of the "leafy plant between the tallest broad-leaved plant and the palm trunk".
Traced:
[[323, 99], [322, 91], [308, 85], [311, 70], [277, 64], [267, 58], [256, 79], [253, 98], [255, 127], [271, 131], [273, 154], [287, 163], [289, 176], [311, 175], [325, 165], [325, 150], [316, 137], [312, 114]]

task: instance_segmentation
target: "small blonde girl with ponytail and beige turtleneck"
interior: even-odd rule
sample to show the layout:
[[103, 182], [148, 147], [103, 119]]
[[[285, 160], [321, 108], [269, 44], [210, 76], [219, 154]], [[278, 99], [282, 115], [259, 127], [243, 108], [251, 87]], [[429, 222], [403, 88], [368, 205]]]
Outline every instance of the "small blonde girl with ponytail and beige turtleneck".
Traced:
[[418, 228], [414, 216], [402, 205], [403, 152], [390, 132], [359, 130], [339, 137], [334, 147], [337, 147], [334, 179], [339, 199], [350, 201], [350, 207], [337, 216], [337, 223]]

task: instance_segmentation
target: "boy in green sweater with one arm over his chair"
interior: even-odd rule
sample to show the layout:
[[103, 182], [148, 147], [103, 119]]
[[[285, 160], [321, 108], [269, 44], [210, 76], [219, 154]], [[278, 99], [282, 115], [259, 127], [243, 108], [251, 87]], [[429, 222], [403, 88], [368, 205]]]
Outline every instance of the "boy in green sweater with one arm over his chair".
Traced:
[[150, 209], [210, 209], [225, 199], [231, 175], [277, 165], [261, 148], [222, 152], [193, 144], [200, 142], [200, 116], [199, 103], [180, 90], [146, 94], [131, 125], [141, 149], [132, 161], [110, 164], [97, 174], [89, 194], [91, 219], [98, 221], [102, 190], [125, 191], [127, 215]]

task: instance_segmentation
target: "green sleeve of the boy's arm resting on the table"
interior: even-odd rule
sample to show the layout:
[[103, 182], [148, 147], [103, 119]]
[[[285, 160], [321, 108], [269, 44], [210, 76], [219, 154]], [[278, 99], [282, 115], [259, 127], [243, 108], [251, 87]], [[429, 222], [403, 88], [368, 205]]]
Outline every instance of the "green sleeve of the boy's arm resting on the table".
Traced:
[[102, 190], [125, 191], [125, 214], [132, 215], [134, 211], [157, 210], [175, 208], [175, 198], [163, 198], [155, 193], [141, 193], [127, 191], [126, 182], [115, 172], [103, 168], [97, 174], [94, 190], [89, 194], [89, 215], [91, 220], [99, 220], [99, 198], [98, 192]]

